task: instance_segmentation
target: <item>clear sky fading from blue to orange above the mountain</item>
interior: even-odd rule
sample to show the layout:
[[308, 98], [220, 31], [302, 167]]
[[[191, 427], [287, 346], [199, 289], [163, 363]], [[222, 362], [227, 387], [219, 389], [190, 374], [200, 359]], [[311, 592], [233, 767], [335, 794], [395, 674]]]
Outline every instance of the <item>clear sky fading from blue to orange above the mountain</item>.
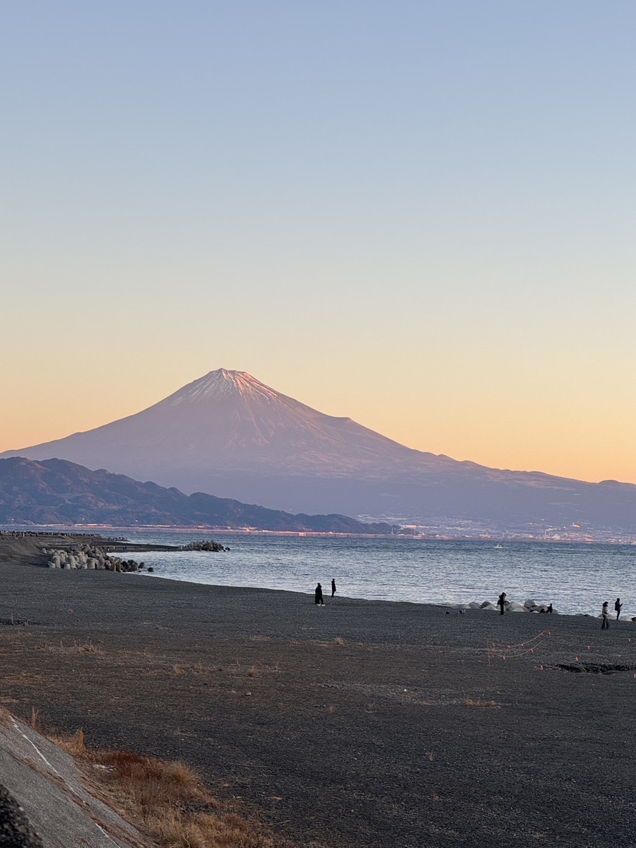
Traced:
[[249, 371], [636, 483], [636, 4], [5, 0], [0, 449]]

